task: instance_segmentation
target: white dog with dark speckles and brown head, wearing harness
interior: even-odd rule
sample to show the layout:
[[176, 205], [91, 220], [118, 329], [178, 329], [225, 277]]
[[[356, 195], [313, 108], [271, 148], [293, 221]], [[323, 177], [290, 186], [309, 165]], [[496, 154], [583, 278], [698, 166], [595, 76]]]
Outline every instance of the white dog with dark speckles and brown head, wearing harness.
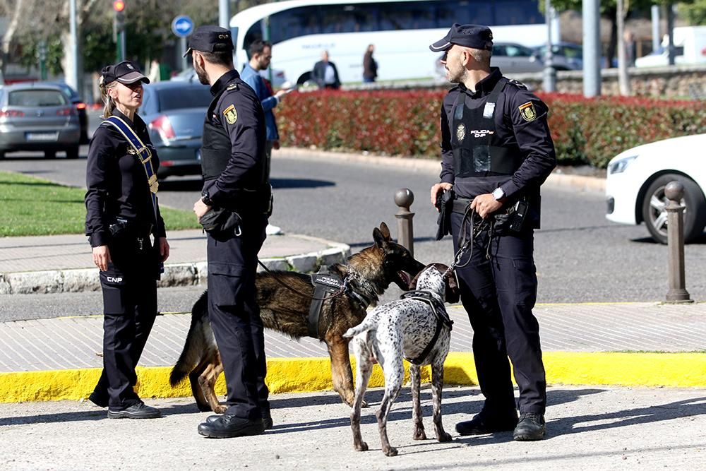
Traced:
[[[453, 274], [448, 267], [433, 263], [417, 275], [416, 291], [407, 292], [402, 299], [383, 304], [370, 311], [359, 326], [349, 328], [344, 337], [353, 337], [353, 352], [356, 358], [356, 384], [351, 428], [353, 446], [358, 451], [368, 449], [360, 434], [360, 410], [368, 386], [373, 364], [379, 363], [385, 376], [385, 395], [378, 417], [378, 429], [383, 453], [397, 455], [390, 446], [387, 433], [388, 413], [392, 408], [405, 378], [402, 359], [410, 362], [412, 376], [412, 405], [414, 439], [425, 440], [424, 423], [419, 404], [419, 367], [431, 364], [431, 393], [433, 398], [433, 422], [436, 439], [450, 441], [441, 424], [441, 388], [443, 386], [443, 362], [448, 354], [451, 336], [451, 321], [446, 314], [444, 301], [458, 302], [459, 294]], [[414, 281], [412, 282], [414, 283]]]

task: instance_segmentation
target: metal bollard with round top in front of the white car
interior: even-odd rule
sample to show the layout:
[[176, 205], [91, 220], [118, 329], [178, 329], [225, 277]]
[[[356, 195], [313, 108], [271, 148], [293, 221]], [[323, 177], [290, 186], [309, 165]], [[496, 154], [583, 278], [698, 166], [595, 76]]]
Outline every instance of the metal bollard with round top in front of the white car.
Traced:
[[685, 287], [684, 270], [684, 209], [681, 198], [684, 196], [684, 186], [678, 181], [670, 181], [664, 187], [664, 196], [669, 200], [665, 209], [666, 239], [669, 249], [669, 291], [666, 302], [693, 302]]

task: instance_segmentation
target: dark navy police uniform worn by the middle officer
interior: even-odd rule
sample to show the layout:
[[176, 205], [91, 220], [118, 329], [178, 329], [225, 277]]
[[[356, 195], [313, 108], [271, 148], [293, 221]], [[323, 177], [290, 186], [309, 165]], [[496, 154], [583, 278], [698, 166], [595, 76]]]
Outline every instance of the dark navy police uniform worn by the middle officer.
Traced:
[[240, 217], [229, 234], [208, 234], [208, 314], [225, 370], [229, 415], [268, 416], [265, 340], [256, 302], [257, 256], [265, 241], [270, 184], [265, 114], [252, 88], [229, 71], [211, 87], [203, 125], [203, 200]]

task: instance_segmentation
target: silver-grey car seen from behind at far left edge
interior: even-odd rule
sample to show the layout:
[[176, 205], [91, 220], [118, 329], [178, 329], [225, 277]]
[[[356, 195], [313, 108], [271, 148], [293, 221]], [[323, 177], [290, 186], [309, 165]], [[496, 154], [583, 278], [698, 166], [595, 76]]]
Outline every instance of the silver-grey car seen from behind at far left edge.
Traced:
[[0, 89], [0, 158], [16, 150], [64, 151], [78, 158], [80, 124], [71, 99], [58, 85], [18, 83]]

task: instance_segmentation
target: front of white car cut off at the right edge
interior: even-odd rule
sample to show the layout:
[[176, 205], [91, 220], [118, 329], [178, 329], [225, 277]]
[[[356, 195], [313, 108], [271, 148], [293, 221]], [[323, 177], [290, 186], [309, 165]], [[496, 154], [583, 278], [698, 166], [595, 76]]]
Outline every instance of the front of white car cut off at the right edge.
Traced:
[[706, 134], [638, 145], [616, 155], [608, 164], [606, 217], [623, 224], [645, 222], [650, 235], [666, 244], [670, 181], [684, 186], [684, 240], [700, 237], [706, 227]]

